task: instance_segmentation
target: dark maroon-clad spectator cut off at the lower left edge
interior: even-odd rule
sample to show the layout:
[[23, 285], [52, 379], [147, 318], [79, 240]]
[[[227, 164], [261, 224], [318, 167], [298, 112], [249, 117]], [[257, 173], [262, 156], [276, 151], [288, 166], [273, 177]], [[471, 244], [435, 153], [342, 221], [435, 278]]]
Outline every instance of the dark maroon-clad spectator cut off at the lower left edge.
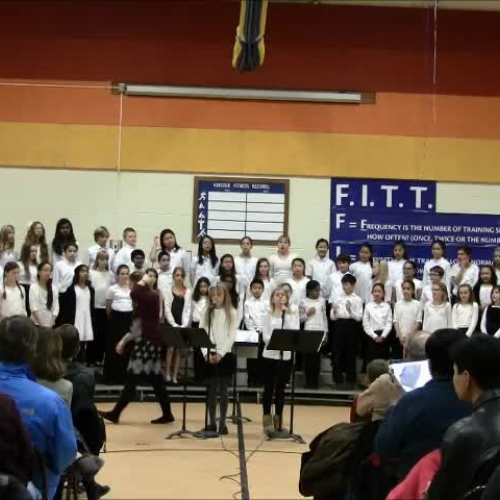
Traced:
[[33, 446], [14, 400], [0, 393], [0, 473], [28, 486], [34, 472]]

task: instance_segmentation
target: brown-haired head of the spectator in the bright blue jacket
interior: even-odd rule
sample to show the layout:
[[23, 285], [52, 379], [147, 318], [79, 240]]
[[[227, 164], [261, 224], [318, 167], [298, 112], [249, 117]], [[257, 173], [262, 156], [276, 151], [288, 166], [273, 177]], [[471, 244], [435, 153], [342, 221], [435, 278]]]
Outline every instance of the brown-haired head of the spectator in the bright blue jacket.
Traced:
[[11, 316], [0, 323], [0, 361], [29, 363], [35, 354], [37, 330], [25, 316]]

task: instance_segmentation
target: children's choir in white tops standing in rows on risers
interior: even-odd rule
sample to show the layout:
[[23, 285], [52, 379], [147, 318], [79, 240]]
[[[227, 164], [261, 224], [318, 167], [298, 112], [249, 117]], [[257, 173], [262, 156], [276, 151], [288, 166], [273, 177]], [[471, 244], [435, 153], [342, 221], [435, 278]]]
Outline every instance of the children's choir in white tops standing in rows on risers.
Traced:
[[[306, 264], [291, 250], [287, 235], [278, 239], [277, 251], [269, 258], [253, 255], [248, 236], [241, 240], [239, 255], [219, 258], [216, 242], [207, 235], [190, 259], [175, 233], [165, 229], [147, 259], [137, 248], [134, 228], [125, 228], [115, 253], [109, 248], [109, 231], [99, 226], [83, 263], [68, 219], [57, 222], [50, 251], [39, 221], [30, 225], [19, 255], [15, 236], [12, 225], [0, 229], [0, 319], [20, 314], [43, 327], [75, 325], [83, 343], [81, 356], [89, 364], [104, 364], [107, 383], [122, 383], [130, 370], [126, 357], [117, 351], [126, 351], [130, 337], [123, 339], [137, 316], [131, 289], [146, 273], [154, 274], [147, 286], [159, 297], [158, 321], [172, 327], [205, 327], [216, 346], [194, 353], [195, 378], [208, 380], [212, 430], [217, 401], [221, 417], [227, 410], [238, 328], [253, 330], [261, 339], [268, 433], [281, 427], [291, 369], [290, 353], [280, 364], [279, 353], [267, 348], [276, 328], [324, 333], [322, 352], [303, 360], [306, 385], [312, 388], [318, 386], [325, 351], [332, 356], [333, 382], [352, 386], [358, 357], [364, 364], [402, 358], [409, 339], [420, 329], [432, 333], [453, 327], [467, 336], [482, 332], [500, 338], [500, 248], [494, 250], [491, 265], [478, 267], [471, 249], [459, 247], [451, 265], [445, 244], [434, 241], [420, 280], [402, 241], [394, 243], [389, 260], [377, 259], [365, 243], [355, 262], [347, 254], [334, 262], [328, 241], [319, 239], [315, 257]], [[148, 269], [150, 264], [154, 269]], [[173, 349], [163, 355], [168, 382], [177, 383], [180, 356]], [[219, 432], [226, 430], [221, 418]]]

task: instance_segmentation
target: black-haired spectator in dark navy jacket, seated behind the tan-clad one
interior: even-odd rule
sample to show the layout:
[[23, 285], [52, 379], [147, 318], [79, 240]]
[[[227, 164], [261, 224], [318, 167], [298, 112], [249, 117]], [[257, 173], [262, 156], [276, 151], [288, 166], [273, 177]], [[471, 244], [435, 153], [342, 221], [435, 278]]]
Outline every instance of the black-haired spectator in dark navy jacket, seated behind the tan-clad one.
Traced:
[[425, 351], [432, 380], [405, 394], [380, 424], [374, 449], [383, 464], [395, 462], [398, 481], [424, 455], [441, 446], [450, 425], [471, 413], [471, 405], [457, 398], [452, 381], [451, 349], [461, 339], [462, 333], [448, 328], [429, 337]]

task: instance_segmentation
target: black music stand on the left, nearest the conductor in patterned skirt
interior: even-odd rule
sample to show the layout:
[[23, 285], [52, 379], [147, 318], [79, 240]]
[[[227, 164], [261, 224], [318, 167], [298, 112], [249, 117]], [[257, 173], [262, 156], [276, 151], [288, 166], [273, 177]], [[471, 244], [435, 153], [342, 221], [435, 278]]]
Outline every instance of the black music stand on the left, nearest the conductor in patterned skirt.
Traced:
[[[163, 326], [163, 340], [168, 348], [175, 349], [200, 349], [202, 347], [213, 347], [208, 334], [203, 328], [180, 328]], [[169, 434], [165, 439], [173, 439], [174, 437], [182, 437], [185, 434], [194, 437], [200, 437], [199, 433], [186, 429], [186, 407], [187, 407], [187, 371], [188, 371], [188, 356], [184, 357], [184, 390], [182, 395], [182, 427], [180, 430]]]

